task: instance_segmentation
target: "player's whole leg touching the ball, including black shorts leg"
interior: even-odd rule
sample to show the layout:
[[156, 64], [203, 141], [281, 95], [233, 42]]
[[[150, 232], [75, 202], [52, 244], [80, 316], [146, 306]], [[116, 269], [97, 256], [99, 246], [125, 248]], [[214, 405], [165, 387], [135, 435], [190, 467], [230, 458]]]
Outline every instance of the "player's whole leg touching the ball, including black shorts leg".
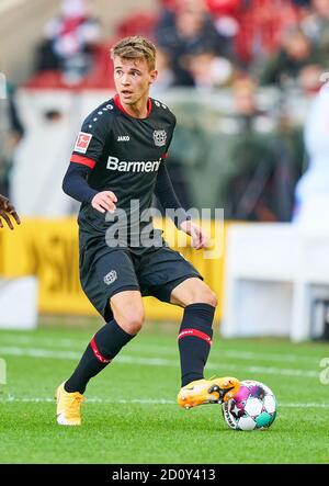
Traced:
[[192, 263], [166, 245], [146, 252], [141, 263], [138, 270], [141, 295], [154, 295], [184, 308], [179, 334], [182, 369], [179, 404], [191, 408], [229, 399], [239, 389], [237, 378], [205, 380], [203, 375], [213, 337], [216, 295]]

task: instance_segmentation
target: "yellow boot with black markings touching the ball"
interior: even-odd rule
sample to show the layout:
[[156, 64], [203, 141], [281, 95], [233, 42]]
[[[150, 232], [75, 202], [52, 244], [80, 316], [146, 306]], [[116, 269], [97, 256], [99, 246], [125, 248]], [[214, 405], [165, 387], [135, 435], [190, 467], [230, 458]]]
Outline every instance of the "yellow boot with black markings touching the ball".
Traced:
[[186, 409], [203, 404], [223, 404], [232, 398], [239, 387], [239, 380], [231, 376], [196, 380], [180, 389], [177, 400], [180, 407]]

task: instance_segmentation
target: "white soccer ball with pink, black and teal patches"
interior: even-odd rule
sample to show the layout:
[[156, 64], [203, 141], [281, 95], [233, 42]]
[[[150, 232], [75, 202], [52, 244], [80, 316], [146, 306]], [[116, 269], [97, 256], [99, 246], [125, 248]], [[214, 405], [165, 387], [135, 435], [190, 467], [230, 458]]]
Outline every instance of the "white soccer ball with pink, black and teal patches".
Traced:
[[276, 417], [275, 395], [269, 386], [245, 380], [237, 395], [222, 405], [223, 416], [231, 429], [268, 429]]

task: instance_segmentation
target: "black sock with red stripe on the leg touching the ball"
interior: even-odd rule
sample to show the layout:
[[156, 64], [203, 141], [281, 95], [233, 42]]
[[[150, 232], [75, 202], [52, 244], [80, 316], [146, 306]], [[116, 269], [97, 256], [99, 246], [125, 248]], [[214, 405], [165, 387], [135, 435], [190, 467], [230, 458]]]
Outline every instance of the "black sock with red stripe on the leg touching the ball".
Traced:
[[215, 307], [209, 304], [191, 304], [184, 309], [179, 334], [179, 350], [182, 371], [182, 386], [203, 378], [207, 362]]

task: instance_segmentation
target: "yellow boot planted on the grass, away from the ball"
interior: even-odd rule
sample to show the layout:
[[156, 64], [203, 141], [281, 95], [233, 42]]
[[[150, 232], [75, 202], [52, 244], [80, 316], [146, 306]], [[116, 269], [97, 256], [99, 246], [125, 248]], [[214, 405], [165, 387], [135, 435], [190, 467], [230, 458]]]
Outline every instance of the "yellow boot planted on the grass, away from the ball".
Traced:
[[64, 388], [64, 383], [56, 389], [55, 399], [57, 400], [57, 423], [60, 426], [80, 426], [81, 425], [81, 402], [83, 395], [79, 392], [68, 393]]

